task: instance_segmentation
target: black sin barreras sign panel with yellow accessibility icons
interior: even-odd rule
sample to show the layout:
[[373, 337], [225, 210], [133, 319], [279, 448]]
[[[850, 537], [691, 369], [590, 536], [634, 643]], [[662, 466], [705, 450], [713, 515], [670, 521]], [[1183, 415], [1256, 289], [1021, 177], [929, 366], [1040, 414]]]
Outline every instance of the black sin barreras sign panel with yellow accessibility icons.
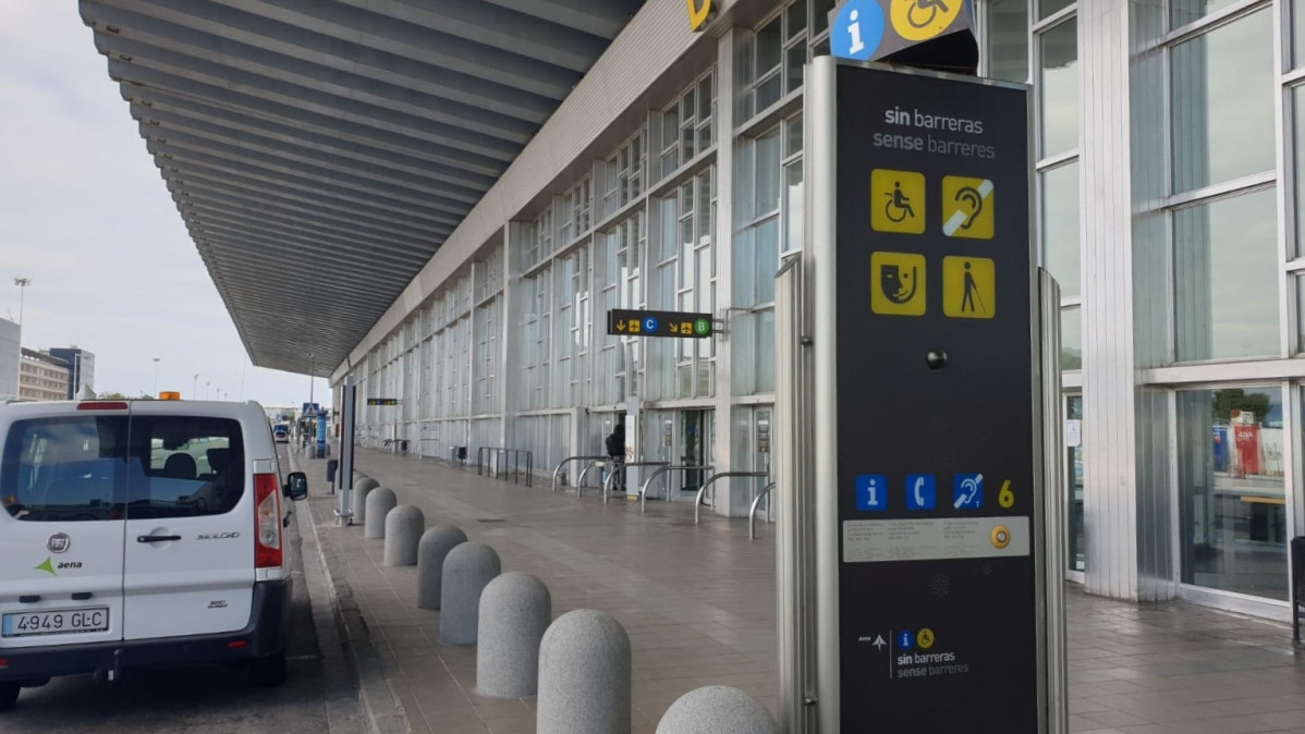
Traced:
[[1037, 731], [1027, 94], [837, 74], [843, 731]]

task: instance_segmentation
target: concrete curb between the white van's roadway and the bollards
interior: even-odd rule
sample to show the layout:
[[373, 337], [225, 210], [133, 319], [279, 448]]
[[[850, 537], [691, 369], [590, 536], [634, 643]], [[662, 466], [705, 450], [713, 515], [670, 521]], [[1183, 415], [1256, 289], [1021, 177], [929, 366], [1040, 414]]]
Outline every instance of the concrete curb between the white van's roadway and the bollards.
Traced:
[[[291, 469], [303, 471], [294, 451], [291, 450], [287, 454], [290, 455]], [[308, 575], [309, 566], [313, 566], [312, 571], [315, 575], [320, 570], [322, 585], [317, 591], [326, 592], [324, 596], [328, 596], [326, 600], [318, 600], [316, 595], [311, 595], [313, 600], [313, 623], [317, 626], [318, 635], [321, 635], [322, 662], [328, 664], [330, 654], [333, 654], [328, 649], [342, 652], [346, 665], [352, 669], [358, 682], [358, 705], [361, 708], [365, 731], [372, 734], [410, 734], [412, 727], [408, 724], [407, 713], [403, 711], [403, 705], [399, 703], [398, 696], [394, 695], [394, 690], [385, 677], [380, 654], [368, 636], [367, 622], [363, 619], [363, 614], [358, 609], [358, 602], [354, 600], [354, 591], [343, 576], [337, 578], [330, 571], [333, 567], [339, 567], [338, 565], [342, 561], [334, 545], [324, 541], [325, 538], [317, 532], [317, 520], [313, 516], [313, 503], [321, 505], [326, 497], [338, 498], [339, 495], [318, 494], [313, 497], [313, 494], [309, 494], [308, 499], [300, 502], [300, 506], [305, 511], [295, 512], [300, 536], [305, 540], [312, 537], [313, 546], [317, 549], [312, 563], [309, 563], [305, 554], [305, 576]], [[312, 591], [313, 584], [309, 583], [309, 592]], [[321, 611], [318, 611], [320, 606]], [[328, 623], [328, 619], [330, 619], [330, 623]], [[328, 722], [333, 734], [335, 731], [358, 730], [356, 721], [351, 722], [352, 726], [345, 727], [346, 721], [337, 721], [338, 714], [331, 716], [331, 707], [328, 705]], [[339, 729], [337, 729], [337, 724], [341, 726]]]

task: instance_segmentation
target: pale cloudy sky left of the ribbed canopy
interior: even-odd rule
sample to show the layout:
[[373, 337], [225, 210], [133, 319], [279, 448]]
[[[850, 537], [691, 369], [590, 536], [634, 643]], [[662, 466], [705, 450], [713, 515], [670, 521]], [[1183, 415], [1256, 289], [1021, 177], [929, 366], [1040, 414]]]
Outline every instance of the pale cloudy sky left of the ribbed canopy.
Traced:
[[90, 351], [99, 392], [307, 402], [308, 375], [249, 364], [77, 3], [0, 0], [0, 318], [21, 301], [22, 345]]

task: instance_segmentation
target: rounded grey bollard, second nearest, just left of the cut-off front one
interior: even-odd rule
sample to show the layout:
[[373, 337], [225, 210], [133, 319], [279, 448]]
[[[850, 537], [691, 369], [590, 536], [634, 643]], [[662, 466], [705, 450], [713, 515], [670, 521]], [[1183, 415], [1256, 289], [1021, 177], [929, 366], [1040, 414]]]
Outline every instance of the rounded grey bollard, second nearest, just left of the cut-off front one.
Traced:
[[596, 609], [559, 617], [539, 643], [536, 734], [629, 734], [630, 638]]

